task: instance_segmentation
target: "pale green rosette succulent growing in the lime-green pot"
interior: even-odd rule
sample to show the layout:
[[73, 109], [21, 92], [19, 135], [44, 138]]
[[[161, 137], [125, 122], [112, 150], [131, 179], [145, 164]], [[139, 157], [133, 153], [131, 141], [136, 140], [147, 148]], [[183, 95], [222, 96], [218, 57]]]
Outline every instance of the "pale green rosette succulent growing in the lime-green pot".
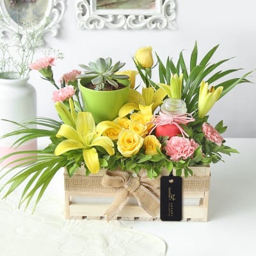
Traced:
[[79, 64], [86, 71], [79, 78], [86, 79], [87, 83], [92, 82], [96, 85], [96, 90], [102, 90], [107, 83], [118, 88], [118, 80], [129, 79], [129, 76], [115, 74], [125, 63], [120, 61], [112, 65], [111, 58], [99, 58], [95, 62], [89, 62], [88, 66]]

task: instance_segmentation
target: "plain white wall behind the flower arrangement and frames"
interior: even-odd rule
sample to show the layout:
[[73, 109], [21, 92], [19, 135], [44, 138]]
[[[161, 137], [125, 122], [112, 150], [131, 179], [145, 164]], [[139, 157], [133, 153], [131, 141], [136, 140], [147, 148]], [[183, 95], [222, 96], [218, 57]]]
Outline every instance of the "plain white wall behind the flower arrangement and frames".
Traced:
[[[223, 69], [244, 68], [237, 72], [242, 75], [256, 68], [255, 0], [177, 0], [176, 3], [177, 31], [88, 31], [79, 30], [77, 26], [76, 1], [67, 0], [59, 35], [56, 38], [45, 36], [48, 46], [65, 53], [65, 59], [58, 61], [54, 67], [56, 80], [61, 74], [79, 68], [78, 63], [88, 63], [100, 56], [111, 56], [114, 61], [122, 60], [127, 63], [127, 69], [133, 69], [131, 56], [136, 49], [147, 45], [152, 45], [163, 59], [169, 55], [177, 60], [179, 52], [184, 49], [189, 63], [195, 40], [200, 56], [220, 44], [212, 62], [236, 56], [223, 65]], [[38, 95], [38, 116], [57, 118], [51, 100], [53, 86], [42, 81], [37, 72], [31, 72], [30, 76]], [[255, 72], [250, 79], [256, 82]], [[256, 84], [237, 86], [211, 110], [211, 124], [215, 125], [223, 119], [228, 125], [228, 131], [224, 134], [226, 138], [255, 138], [255, 97]]]

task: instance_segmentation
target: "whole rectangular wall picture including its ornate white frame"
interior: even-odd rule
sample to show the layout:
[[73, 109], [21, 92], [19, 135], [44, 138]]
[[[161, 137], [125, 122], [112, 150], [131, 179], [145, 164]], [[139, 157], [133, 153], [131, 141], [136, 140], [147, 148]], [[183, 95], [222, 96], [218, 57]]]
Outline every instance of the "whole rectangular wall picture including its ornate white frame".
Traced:
[[175, 0], [78, 0], [83, 29], [176, 29]]

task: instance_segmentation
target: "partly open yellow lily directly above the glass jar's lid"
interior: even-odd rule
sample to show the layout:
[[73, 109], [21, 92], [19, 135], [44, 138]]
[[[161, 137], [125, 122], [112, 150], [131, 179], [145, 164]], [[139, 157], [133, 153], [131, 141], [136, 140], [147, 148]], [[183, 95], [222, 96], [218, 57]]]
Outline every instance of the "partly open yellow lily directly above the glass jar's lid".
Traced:
[[172, 99], [181, 99], [181, 86], [182, 86], [183, 74], [178, 76], [175, 74], [171, 77], [170, 85], [168, 84], [157, 84], [160, 88], [163, 88], [164, 91], [168, 94], [169, 98]]

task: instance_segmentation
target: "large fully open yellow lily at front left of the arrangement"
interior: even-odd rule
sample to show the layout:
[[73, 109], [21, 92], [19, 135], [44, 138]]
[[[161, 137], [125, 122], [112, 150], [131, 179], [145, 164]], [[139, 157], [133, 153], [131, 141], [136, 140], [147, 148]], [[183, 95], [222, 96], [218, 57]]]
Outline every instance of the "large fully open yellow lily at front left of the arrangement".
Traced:
[[91, 173], [100, 169], [99, 156], [95, 146], [102, 147], [110, 156], [115, 153], [113, 142], [106, 136], [97, 132], [93, 116], [90, 112], [77, 114], [76, 129], [68, 124], [63, 124], [56, 134], [57, 138], [67, 138], [56, 147], [54, 154], [60, 156], [70, 150], [83, 148], [84, 163]]

